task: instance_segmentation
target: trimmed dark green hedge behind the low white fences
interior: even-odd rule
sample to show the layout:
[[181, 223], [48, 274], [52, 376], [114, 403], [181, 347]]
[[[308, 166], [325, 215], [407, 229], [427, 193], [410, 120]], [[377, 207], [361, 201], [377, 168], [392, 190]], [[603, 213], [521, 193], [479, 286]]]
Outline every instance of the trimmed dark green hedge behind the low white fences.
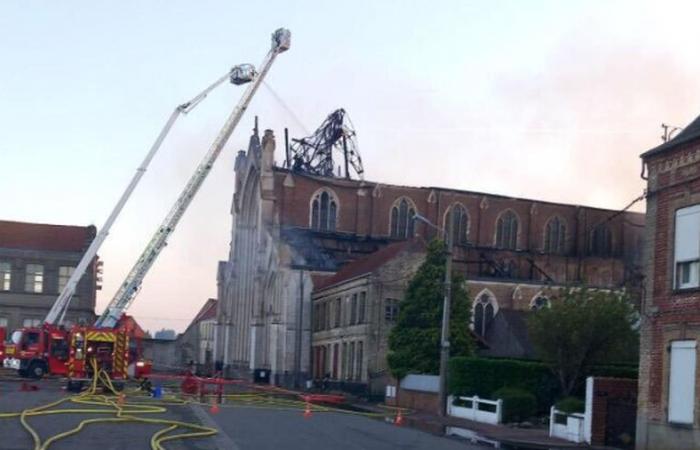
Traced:
[[[637, 378], [637, 368], [631, 366], [597, 366], [587, 375], [617, 378]], [[478, 395], [494, 398], [503, 387], [524, 389], [535, 395], [537, 409], [549, 410], [561, 397], [559, 381], [547, 364], [515, 359], [455, 357], [450, 359], [449, 391], [455, 395]], [[585, 383], [572, 395], [582, 396]]]

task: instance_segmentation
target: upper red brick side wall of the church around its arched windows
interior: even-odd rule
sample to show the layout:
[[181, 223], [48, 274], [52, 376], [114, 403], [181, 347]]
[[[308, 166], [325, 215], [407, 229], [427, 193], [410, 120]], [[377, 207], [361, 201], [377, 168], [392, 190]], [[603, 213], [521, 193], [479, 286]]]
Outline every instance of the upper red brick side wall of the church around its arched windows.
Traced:
[[[549, 276], [556, 284], [583, 282], [619, 287], [633, 278], [639, 262], [643, 215], [638, 213], [628, 212], [609, 220], [614, 211], [538, 200], [321, 178], [283, 169], [275, 169], [274, 176], [282, 227], [309, 228], [311, 199], [322, 189], [337, 199], [336, 231], [355, 236], [389, 238], [391, 209], [402, 198], [408, 199], [417, 213], [441, 227], [445, 226], [449, 209], [462, 205], [468, 216], [468, 245], [456, 246], [455, 265], [470, 279], [493, 278], [489, 261], [496, 261], [513, 265], [513, 279], [540, 283]], [[506, 211], [517, 217], [517, 249], [494, 253], [497, 220]], [[563, 251], [545, 253], [545, 230], [554, 217], [566, 227]], [[599, 224], [608, 227], [611, 236], [611, 251], [603, 256], [591, 251], [592, 230]], [[417, 224], [416, 233], [430, 239], [436, 232]]]

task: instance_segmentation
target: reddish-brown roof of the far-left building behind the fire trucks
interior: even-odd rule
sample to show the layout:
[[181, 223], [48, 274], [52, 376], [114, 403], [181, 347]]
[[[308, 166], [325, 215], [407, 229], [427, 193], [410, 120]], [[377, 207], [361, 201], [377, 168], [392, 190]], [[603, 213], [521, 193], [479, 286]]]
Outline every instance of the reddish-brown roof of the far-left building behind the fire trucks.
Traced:
[[83, 252], [95, 237], [94, 226], [49, 225], [0, 220], [0, 247]]

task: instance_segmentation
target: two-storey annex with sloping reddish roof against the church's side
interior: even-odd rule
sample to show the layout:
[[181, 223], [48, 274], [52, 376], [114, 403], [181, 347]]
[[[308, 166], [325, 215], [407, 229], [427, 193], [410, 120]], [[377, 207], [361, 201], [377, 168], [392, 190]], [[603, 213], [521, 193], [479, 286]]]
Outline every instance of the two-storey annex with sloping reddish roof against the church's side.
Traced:
[[312, 377], [382, 394], [388, 335], [408, 282], [425, 259], [420, 239], [392, 243], [319, 280], [312, 294]]

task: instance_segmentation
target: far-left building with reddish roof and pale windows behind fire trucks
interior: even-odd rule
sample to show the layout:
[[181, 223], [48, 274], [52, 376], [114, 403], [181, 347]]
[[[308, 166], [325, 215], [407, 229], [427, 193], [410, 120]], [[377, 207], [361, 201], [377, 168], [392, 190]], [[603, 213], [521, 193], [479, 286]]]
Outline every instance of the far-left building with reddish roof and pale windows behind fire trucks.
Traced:
[[[42, 323], [95, 233], [94, 226], [0, 221], [0, 327]], [[96, 264], [78, 284], [67, 323], [95, 318]]]

